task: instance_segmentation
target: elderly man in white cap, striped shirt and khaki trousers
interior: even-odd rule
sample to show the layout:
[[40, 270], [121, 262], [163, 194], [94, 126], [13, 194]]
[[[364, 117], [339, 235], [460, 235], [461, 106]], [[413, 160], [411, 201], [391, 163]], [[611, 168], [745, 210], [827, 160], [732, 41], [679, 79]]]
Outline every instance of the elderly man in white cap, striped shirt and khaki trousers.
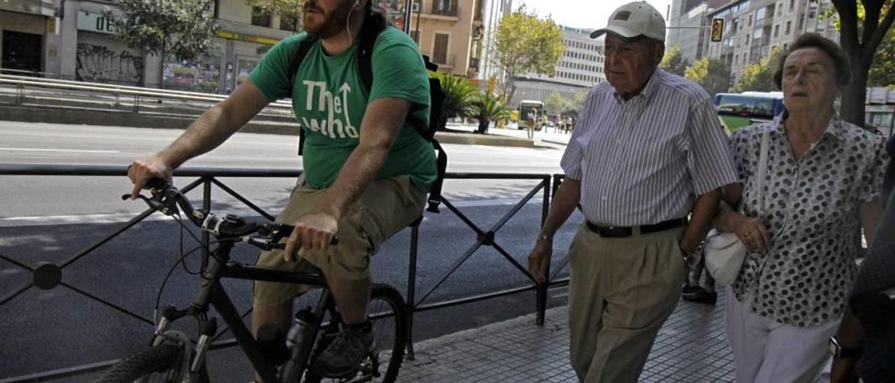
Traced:
[[591, 38], [603, 34], [608, 82], [584, 101], [529, 271], [546, 279], [553, 234], [580, 204], [587, 221], [569, 248], [572, 367], [586, 382], [635, 382], [678, 303], [684, 259], [737, 174], [709, 95], [657, 68], [661, 14], [625, 4]]

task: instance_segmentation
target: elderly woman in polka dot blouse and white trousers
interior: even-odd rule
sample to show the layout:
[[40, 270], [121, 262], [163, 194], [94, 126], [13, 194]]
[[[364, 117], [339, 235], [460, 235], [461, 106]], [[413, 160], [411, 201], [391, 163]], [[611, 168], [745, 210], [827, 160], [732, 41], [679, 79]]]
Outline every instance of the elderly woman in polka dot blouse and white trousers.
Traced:
[[788, 112], [730, 137], [740, 183], [725, 190], [733, 209], [722, 207], [715, 225], [737, 234], [749, 250], [727, 294], [737, 382], [810, 381], [834, 335], [844, 347], [836, 363], [857, 361], [845, 302], [857, 273], [856, 235], [863, 226], [870, 243], [879, 221], [888, 155], [882, 136], [836, 115], [833, 102], [848, 80], [848, 57], [836, 43], [802, 35], [774, 74]]

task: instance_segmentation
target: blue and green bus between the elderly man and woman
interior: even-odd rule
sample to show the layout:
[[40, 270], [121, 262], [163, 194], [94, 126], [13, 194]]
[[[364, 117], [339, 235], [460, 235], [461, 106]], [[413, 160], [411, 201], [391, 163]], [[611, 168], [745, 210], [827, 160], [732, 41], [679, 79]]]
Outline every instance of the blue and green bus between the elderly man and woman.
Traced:
[[729, 132], [783, 113], [782, 92], [719, 93], [712, 103]]

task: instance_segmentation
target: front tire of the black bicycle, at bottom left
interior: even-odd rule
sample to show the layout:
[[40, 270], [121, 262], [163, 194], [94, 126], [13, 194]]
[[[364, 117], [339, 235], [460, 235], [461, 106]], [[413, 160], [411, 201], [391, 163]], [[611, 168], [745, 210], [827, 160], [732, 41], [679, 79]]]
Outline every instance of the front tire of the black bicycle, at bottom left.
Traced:
[[[155, 345], [133, 353], [115, 363], [94, 381], [94, 383], [124, 383], [149, 378], [155, 373], [166, 373], [180, 369], [183, 347], [178, 345]], [[176, 381], [177, 379], [173, 379]], [[161, 381], [166, 381], [163, 379]], [[199, 370], [199, 382], [209, 383], [209, 371], [203, 362]]]

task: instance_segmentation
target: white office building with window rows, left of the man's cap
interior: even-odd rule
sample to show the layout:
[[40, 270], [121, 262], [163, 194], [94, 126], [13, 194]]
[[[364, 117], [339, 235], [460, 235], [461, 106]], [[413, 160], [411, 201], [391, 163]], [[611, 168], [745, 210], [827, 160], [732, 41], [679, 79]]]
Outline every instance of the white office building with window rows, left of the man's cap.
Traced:
[[592, 39], [592, 30], [562, 28], [566, 52], [553, 76], [530, 73], [516, 78], [516, 92], [510, 105], [522, 100], [546, 102], [551, 93], [571, 99], [606, 81], [603, 73], [603, 38]]

